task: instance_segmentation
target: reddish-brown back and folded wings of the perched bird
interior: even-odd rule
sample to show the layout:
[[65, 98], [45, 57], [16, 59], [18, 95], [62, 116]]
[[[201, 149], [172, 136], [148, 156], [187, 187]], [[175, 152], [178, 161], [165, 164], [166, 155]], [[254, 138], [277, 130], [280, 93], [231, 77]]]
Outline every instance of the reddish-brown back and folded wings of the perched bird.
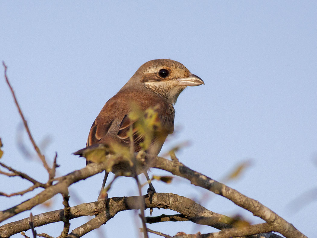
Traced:
[[[135, 101], [133, 102], [133, 100]], [[132, 103], [137, 104], [142, 111], [153, 108], [157, 112], [161, 128], [160, 132], [154, 135], [152, 144], [156, 145], [155, 150], [159, 153], [166, 136], [174, 130], [174, 109], [165, 100], [162, 100], [161, 96], [147, 91], [141, 91], [137, 93], [137, 96], [135, 91], [119, 91], [113, 96], [95, 119], [86, 146], [110, 145], [111, 143], [129, 146], [128, 131], [132, 126], [134, 149], [139, 151], [141, 149], [140, 143], [144, 141], [144, 135], [139, 133], [135, 126], [136, 121], [131, 120], [128, 116], [132, 110]]]

